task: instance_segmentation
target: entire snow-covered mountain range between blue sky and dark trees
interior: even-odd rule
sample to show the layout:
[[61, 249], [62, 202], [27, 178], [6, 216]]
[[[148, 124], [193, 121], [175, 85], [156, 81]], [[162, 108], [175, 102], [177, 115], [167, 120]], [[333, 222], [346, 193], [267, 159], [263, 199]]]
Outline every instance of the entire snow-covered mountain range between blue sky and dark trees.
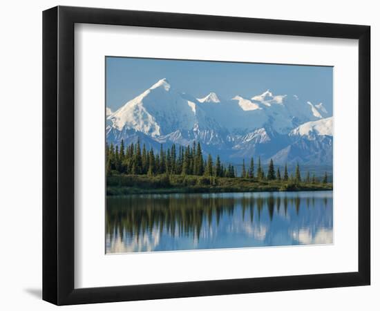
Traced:
[[[260, 95], [230, 100], [216, 93], [196, 98], [160, 79], [120, 109], [107, 109], [106, 140], [186, 146], [194, 140], [206, 153], [229, 162], [261, 156], [280, 162], [332, 164], [333, 119], [322, 103], [297, 95]], [[322, 162], [321, 162], [322, 161]]]

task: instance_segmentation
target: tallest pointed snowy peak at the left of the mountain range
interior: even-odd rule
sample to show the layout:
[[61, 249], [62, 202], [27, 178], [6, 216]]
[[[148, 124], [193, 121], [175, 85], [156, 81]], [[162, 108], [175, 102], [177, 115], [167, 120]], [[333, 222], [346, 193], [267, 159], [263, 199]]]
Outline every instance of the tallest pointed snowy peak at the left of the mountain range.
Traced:
[[[210, 100], [215, 100], [215, 97], [210, 96]], [[207, 115], [201, 106], [191, 95], [171, 88], [167, 79], [160, 79], [144, 93], [126, 102], [109, 118], [119, 131], [134, 129], [152, 138], [169, 135], [177, 130], [220, 129], [212, 115]]]

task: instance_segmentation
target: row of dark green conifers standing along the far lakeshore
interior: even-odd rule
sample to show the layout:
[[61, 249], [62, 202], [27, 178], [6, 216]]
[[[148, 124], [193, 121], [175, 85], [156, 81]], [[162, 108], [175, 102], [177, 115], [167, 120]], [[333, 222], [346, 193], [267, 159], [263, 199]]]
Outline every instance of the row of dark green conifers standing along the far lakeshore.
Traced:
[[252, 157], [249, 164], [243, 159], [242, 169], [238, 176], [238, 171], [232, 164], [222, 164], [220, 156], [214, 160], [211, 154], [207, 158], [203, 157], [200, 143], [193, 142], [192, 145], [172, 146], [164, 150], [162, 144], [160, 151], [155, 153], [153, 148], [147, 149], [145, 144], [140, 145], [140, 140], [135, 144], [124, 145], [124, 140], [118, 145], [106, 144], [106, 173], [111, 175], [113, 171], [127, 175], [148, 175], [159, 174], [183, 175], [183, 176], [206, 176], [206, 177], [226, 177], [226, 178], [249, 178], [251, 180], [278, 180], [307, 183], [327, 183], [327, 172], [323, 180], [312, 176], [307, 172], [304, 179], [301, 178], [299, 164], [293, 173], [288, 172], [287, 164], [281, 172], [280, 168], [275, 169], [272, 159], [269, 161], [267, 172], [263, 169], [260, 157], [258, 157], [257, 168]]

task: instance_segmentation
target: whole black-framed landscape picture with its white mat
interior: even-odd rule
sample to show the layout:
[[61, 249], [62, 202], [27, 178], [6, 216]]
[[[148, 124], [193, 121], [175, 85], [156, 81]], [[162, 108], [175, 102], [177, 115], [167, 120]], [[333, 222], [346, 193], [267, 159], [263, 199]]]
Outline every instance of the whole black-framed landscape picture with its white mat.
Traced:
[[43, 15], [43, 299], [370, 285], [370, 26]]

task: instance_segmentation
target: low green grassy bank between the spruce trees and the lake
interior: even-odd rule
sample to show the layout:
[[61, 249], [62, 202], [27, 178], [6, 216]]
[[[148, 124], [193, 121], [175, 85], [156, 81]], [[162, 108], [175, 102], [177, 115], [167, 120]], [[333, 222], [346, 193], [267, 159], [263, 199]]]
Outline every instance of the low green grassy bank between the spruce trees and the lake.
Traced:
[[254, 191], [321, 191], [332, 190], [332, 183], [323, 184], [250, 178], [215, 178], [205, 176], [113, 175], [107, 177], [107, 196], [125, 194], [173, 194]]

